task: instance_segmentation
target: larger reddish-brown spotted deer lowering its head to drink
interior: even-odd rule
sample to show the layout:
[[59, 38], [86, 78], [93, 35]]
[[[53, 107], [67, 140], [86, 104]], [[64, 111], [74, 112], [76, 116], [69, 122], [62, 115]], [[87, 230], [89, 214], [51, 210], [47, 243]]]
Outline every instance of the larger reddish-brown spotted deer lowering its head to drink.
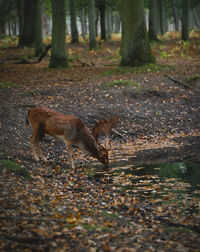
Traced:
[[39, 160], [39, 157], [41, 157], [41, 159], [46, 161], [39, 146], [39, 141], [45, 134], [48, 134], [65, 142], [68, 149], [68, 161], [70, 161], [72, 168], [75, 168], [72, 157], [72, 145], [79, 147], [88, 155], [99, 160], [105, 166], [105, 169], [109, 167], [108, 151], [89, 133], [80, 118], [73, 115], [63, 115], [45, 107], [36, 107], [27, 111], [27, 126], [29, 123], [33, 127], [31, 143], [32, 152], [36, 160]]

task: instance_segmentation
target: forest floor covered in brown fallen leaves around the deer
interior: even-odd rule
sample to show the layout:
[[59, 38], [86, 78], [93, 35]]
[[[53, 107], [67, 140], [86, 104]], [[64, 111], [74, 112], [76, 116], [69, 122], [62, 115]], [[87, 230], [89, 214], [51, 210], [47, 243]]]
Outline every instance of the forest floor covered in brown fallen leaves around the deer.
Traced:
[[[118, 67], [119, 47], [118, 40], [91, 52], [86, 43], [68, 45], [65, 70], [49, 69], [49, 57], [35, 63], [30, 49], [1, 47], [0, 251], [199, 251], [197, 200], [180, 207], [173, 194], [165, 203], [142, 199], [119, 186], [130, 185], [131, 174], [113, 177], [130, 163], [200, 163], [199, 37], [152, 45], [158, 64], [138, 68]], [[118, 115], [110, 170], [95, 176], [100, 164], [77, 149], [71, 169], [64, 144], [48, 136], [48, 162], [35, 161], [25, 126], [32, 105], [77, 115], [90, 130]]]

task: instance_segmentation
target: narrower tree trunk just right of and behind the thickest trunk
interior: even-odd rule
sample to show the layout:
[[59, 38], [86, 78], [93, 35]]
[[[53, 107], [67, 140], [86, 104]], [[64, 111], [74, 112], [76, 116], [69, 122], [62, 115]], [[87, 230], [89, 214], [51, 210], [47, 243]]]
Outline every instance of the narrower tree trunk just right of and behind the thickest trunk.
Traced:
[[149, 0], [149, 39], [159, 41], [157, 35], [160, 30], [158, 0]]

